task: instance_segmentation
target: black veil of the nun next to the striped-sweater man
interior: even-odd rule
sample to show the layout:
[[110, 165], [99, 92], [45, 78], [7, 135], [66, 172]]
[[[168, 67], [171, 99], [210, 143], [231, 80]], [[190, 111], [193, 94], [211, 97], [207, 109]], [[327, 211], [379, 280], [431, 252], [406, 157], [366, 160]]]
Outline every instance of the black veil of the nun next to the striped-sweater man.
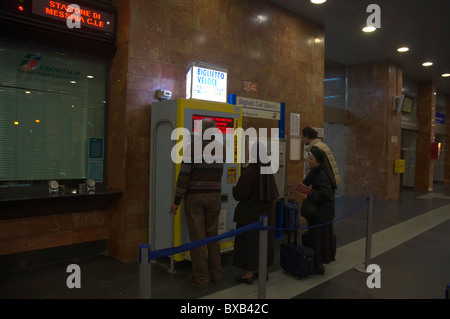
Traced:
[[[260, 153], [261, 152], [261, 153]], [[254, 142], [250, 145], [250, 156], [256, 158], [256, 165], [259, 171], [259, 199], [272, 202], [279, 197], [277, 184], [273, 174], [261, 174], [262, 166], [270, 166], [269, 157], [267, 156], [267, 149], [264, 144]], [[262, 159], [262, 160], [261, 160]]]

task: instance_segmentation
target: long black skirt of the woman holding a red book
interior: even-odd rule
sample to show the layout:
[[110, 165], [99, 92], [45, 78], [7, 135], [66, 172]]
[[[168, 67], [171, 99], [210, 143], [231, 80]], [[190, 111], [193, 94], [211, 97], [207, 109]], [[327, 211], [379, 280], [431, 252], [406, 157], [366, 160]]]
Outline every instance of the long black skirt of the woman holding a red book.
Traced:
[[328, 264], [335, 260], [336, 241], [333, 224], [308, 229], [305, 246], [314, 249], [316, 265]]

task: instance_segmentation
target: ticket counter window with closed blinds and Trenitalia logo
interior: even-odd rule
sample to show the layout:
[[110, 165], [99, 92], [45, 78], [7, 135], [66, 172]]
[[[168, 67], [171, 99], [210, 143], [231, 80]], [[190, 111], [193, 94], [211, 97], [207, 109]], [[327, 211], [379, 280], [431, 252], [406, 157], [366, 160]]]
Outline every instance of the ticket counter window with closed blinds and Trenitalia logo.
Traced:
[[102, 181], [105, 79], [103, 60], [0, 41], [0, 186]]

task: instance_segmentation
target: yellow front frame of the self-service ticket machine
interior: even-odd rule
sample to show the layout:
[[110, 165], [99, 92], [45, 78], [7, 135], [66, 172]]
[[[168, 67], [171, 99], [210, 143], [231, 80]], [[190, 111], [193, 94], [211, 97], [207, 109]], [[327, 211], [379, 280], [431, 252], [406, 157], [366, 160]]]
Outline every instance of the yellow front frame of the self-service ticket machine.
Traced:
[[[239, 114], [239, 122], [234, 121], [235, 129], [237, 127], [240, 127], [242, 125], [242, 110], [239, 108], [239, 111], [236, 112], [236, 106], [226, 103], [219, 103], [219, 102], [211, 102], [211, 101], [202, 101], [202, 100], [191, 100], [191, 99], [178, 99], [177, 100], [177, 127], [185, 127], [184, 126], [184, 110], [186, 109], [196, 109], [196, 110], [202, 110], [202, 111], [212, 111], [212, 112], [222, 112], [222, 113], [232, 113], [232, 114]], [[237, 144], [235, 144], [235, 147], [237, 147]], [[236, 154], [236, 152], [235, 152]], [[237, 162], [237, 159], [235, 157], [235, 160]], [[176, 164], [175, 166], [175, 176], [178, 177], [178, 174], [180, 172], [181, 163]], [[241, 165], [238, 165], [238, 176], [240, 175], [241, 171]], [[176, 181], [175, 181], [176, 182]], [[174, 219], [174, 246], [178, 247], [182, 244], [182, 203], [178, 206], [177, 214], [175, 215]], [[225, 243], [220, 244], [221, 250], [227, 250], [231, 247], [234, 247], [234, 240], [228, 241]], [[175, 261], [183, 261], [187, 258], [189, 258], [189, 251], [179, 253], [174, 255]]]

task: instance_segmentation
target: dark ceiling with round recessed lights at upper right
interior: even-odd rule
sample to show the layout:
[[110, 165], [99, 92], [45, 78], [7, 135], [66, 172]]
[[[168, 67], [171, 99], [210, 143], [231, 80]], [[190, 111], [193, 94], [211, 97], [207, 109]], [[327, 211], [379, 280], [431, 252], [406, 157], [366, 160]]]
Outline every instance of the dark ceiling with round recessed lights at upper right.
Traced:
[[[325, 56], [345, 65], [391, 60], [402, 65], [403, 74], [415, 81], [435, 80], [438, 94], [450, 98], [450, 0], [271, 0], [325, 27]], [[362, 32], [372, 12], [381, 11], [381, 28]], [[398, 53], [407, 46], [410, 51]], [[434, 65], [422, 66], [425, 60]]]

